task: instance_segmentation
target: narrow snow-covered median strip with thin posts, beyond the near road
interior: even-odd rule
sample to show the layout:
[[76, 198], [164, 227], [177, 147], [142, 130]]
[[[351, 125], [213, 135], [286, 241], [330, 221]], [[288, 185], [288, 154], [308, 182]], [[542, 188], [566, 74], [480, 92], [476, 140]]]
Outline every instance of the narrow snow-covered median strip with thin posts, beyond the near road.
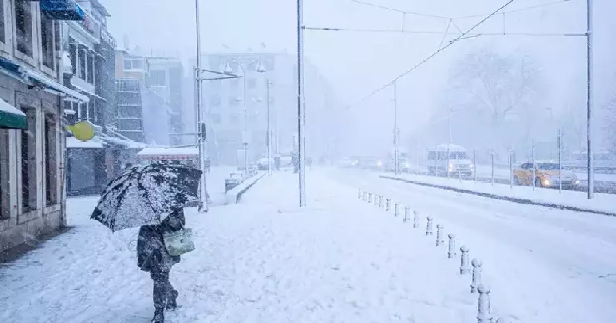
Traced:
[[[394, 178], [393, 174], [383, 174], [383, 177]], [[398, 178], [413, 181], [415, 183], [426, 183], [438, 185], [444, 188], [461, 189], [478, 194], [493, 194], [495, 197], [503, 199], [519, 199], [532, 201], [541, 204], [553, 204], [555, 207], [570, 207], [572, 209], [593, 210], [616, 214], [616, 194], [595, 193], [594, 199], [586, 199], [585, 192], [563, 190], [558, 193], [558, 189], [535, 188], [533, 191], [530, 186], [511, 186], [508, 184], [475, 182], [470, 180], [460, 180], [458, 178], [443, 178], [424, 175], [401, 174]]]

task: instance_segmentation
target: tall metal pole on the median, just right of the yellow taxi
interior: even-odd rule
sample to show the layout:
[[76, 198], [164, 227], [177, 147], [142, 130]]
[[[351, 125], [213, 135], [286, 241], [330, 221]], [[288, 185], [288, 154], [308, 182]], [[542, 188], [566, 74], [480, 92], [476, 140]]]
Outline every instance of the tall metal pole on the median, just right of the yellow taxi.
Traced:
[[588, 154], [588, 199], [594, 197], [593, 127], [593, 0], [586, 0], [586, 154]]

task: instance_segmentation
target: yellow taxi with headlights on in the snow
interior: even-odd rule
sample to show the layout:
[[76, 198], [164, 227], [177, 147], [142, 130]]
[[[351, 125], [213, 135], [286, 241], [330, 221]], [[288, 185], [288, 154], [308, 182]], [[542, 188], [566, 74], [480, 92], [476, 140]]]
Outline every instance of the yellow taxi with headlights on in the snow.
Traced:
[[[553, 161], [535, 162], [535, 177], [533, 178], [533, 163], [525, 162], [513, 170], [513, 182], [516, 185], [532, 185], [537, 187], [558, 187], [558, 163]], [[575, 173], [570, 170], [561, 170], [563, 188], [575, 188], [580, 184]]]

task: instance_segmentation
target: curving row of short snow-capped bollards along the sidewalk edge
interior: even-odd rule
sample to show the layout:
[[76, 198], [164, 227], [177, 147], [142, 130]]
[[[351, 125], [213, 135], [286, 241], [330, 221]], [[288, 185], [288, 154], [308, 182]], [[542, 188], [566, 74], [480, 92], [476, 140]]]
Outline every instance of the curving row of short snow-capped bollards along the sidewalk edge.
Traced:
[[[363, 189], [359, 189], [357, 198], [368, 203], [374, 203], [379, 208], [385, 208], [386, 212], [391, 212], [392, 205], [394, 211], [394, 217], [400, 215], [400, 204], [392, 202], [391, 199], [385, 199], [383, 204], [383, 196], [373, 193], [368, 193]], [[393, 203], [393, 204], [392, 204]], [[410, 221], [410, 208], [404, 206], [403, 222]], [[432, 236], [432, 223], [434, 219], [430, 216], [426, 217], [426, 236]], [[419, 212], [413, 210], [413, 228], [419, 228]], [[447, 258], [453, 259], [458, 257], [456, 252], [456, 235], [453, 233], [447, 234]], [[443, 225], [437, 223], [436, 225], [436, 245], [444, 245], [444, 233]], [[469, 249], [465, 245], [460, 247], [460, 274], [471, 274], [471, 293], [479, 293], [479, 301], [477, 306], [477, 323], [493, 323], [492, 308], [490, 308], [490, 287], [482, 284], [482, 263], [477, 259], [473, 259], [469, 264]], [[501, 317], [496, 323], [508, 323], [509, 320], [505, 317]]]

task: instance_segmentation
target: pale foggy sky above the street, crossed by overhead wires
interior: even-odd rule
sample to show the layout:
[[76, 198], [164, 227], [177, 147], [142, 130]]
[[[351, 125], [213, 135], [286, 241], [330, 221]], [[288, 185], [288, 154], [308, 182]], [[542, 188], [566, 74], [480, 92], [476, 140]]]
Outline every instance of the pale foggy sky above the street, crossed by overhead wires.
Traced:
[[[193, 0], [101, 0], [113, 16], [108, 29], [123, 44], [128, 35], [131, 47], [155, 54], [175, 55], [187, 60], [195, 53]], [[367, 28], [396, 30], [402, 27], [402, 14], [363, 6], [349, 0], [304, 1], [307, 26], [328, 28]], [[461, 17], [489, 14], [505, 0], [367, 0], [375, 4], [421, 14]], [[517, 0], [505, 11], [521, 9], [550, 0]], [[585, 0], [571, 0], [505, 15], [508, 33], [583, 33]], [[596, 103], [602, 104], [614, 92], [616, 76], [616, 22], [611, 14], [616, 4], [595, 0], [595, 77]], [[291, 0], [201, 0], [201, 28], [204, 52], [244, 52], [253, 50], [288, 52], [296, 50], [296, 11]], [[482, 17], [455, 19], [467, 30]], [[407, 15], [405, 29], [445, 31], [448, 19]], [[481, 25], [477, 33], [500, 33], [503, 15]], [[450, 31], [456, 31], [451, 28]], [[363, 129], [391, 129], [392, 117], [385, 107], [393, 107], [393, 91], [384, 89], [368, 100], [356, 103], [383, 86], [423, 58], [439, 44], [453, 39], [442, 35], [402, 33], [355, 33], [306, 31], [306, 57], [320, 69], [344, 105], [352, 105], [348, 122], [357, 135]], [[267, 49], [261, 46], [266, 44]], [[585, 96], [585, 38], [482, 36], [456, 42], [437, 57], [398, 82], [400, 128], [405, 134], [424, 122], [440, 101], [449, 77], [450, 64], [465, 52], [490, 44], [499, 50], [531, 55], [541, 64], [548, 89], [546, 104], [558, 113], [567, 102]], [[228, 47], [228, 48], [227, 48]], [[581, 101], [583, 103], [583, 100]], [[307, 107], [309, 108], [309, 107]], [[580, 106], [580, 113], [584, 111]], [[378, 113], [375, 113], [375, 110]], [[391, 131], [381, 131], [371, 140], [390, 142]]]

